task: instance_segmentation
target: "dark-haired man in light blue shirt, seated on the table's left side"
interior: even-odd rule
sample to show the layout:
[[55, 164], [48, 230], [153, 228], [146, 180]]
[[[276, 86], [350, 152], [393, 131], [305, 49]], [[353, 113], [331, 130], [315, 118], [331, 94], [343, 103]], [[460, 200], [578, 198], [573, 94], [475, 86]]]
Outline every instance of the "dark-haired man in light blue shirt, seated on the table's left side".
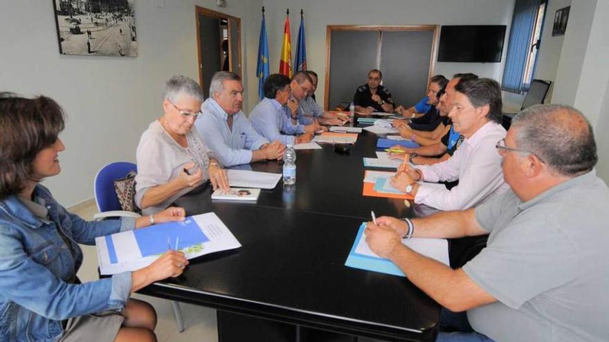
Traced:
[[[290, 82], [289, 77], [281, 74], [267, 77], [264, 81], [264, 99], [254, 107], [249, 120], [253, 128], [268, 140], [279, 140], [282, 144], [309, 142], [313, 136], [313, 124], [293, 124], [287, 114], [289, 109], [285, 104], [291, 95]], [[297, 134], [300, 135], [295, 136]]]

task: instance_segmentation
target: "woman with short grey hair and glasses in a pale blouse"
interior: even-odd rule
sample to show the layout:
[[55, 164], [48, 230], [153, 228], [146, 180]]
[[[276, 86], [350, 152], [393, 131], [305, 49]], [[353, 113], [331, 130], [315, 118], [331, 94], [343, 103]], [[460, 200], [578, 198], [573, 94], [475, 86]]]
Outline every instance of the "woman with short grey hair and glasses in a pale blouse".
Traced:
[[165, 82], [163, 115], [142, 134], [136, 152], [136, 205], [150, 215], [210, 180], [228, 191], [226, 171], [194, 129], [201, 114], [203, 92], [189, 77]]

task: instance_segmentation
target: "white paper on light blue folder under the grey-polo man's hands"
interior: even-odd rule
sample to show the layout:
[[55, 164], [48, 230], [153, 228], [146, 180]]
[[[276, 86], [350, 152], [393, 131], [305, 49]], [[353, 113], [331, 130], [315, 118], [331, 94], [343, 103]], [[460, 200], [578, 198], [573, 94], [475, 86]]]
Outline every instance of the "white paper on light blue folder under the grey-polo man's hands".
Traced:
[[[409, 247], [410, 249], [416, 251], [419, 254], [423, 254], [424, 256], [428, 256], [429, 258], [433, 258], [438, 260], [440, 263], [444, 265], [450, 265], [450, 260], [448, 259], [448, 240], [442, 238], [409, 238], [402, 239], [402, 244]], [[366, 243], [365, 236], [362, 236], [357, 241], [357, 246], [355, 247], [356, 254], [361, 254], [363, 256], [372, 256], [373, 258], [381, 258], [378, 254], [374, 253], [372, 249]]]

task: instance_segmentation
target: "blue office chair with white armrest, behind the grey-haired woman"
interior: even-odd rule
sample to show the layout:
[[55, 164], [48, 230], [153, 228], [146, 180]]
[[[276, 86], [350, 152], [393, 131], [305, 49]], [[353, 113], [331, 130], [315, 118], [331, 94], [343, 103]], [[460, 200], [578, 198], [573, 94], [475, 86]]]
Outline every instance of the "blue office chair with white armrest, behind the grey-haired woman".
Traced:
[[[116, 190], [114, 189], [114, 181], [120, 178], [125, 178], [127, 173], [137, 171], [136, 164], [131, 162], [111, 162], [105, 165], [98, 171], [93, 185], [93, 193], [96, 199], [99, 213], [93, 216], [94, 220], [102, 220], [104, 218], [132, 217], [139, 218], [140, 214], [133, 211], [125, 211], [120, 207]], [[172, 301], [174, 308], [174, 316], [179, 332], [184, 331], [184, 323], [182, 319], [182, 310], [180, 303]]]

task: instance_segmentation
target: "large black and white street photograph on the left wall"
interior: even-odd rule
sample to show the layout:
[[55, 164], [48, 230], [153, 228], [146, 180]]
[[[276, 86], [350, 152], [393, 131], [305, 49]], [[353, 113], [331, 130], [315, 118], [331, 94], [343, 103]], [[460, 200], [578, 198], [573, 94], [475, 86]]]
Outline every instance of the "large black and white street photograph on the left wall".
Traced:
[[135, 0], [51, 0], [62, 55], [138, 55]]

